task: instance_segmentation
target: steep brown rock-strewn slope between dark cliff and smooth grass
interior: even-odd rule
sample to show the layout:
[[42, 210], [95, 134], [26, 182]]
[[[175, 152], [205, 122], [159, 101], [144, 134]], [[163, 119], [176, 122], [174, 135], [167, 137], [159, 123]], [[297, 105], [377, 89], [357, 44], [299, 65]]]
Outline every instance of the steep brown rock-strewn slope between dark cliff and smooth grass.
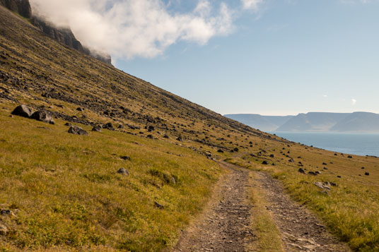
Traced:
[[[55, 116], [84, 124], [113, 121], [130, 124], [131, 129], [150, 124], [160, 131], [170, 131], [175, 137], [203, 135], [204, 138], [210, 124], [261, 134], [112, 66], [78, 55], [4, 8], [0, 23], [0, 80], [4, 90], [0, 95], [8, 100], [23, 97], [47, 102], [53, 105]], [[57, 101], [71, 105], [65, 104], [62, 109], [54, 106]], [[75, 106], [86, 109], [87, 113], [83, 113], [86, 119], [78, 118]], [[190, 124], [199, 124], [198, 130], [188, 133]]]

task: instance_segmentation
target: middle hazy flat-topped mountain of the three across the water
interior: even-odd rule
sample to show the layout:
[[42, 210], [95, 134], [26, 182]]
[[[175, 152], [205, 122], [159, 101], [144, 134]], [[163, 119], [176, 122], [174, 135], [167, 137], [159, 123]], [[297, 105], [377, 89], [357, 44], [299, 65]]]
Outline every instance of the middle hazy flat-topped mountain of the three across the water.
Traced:
[[329, 131], [337, 122], [344, 119], [345, 113], [309, 112], [298, 114], [276, 131]]

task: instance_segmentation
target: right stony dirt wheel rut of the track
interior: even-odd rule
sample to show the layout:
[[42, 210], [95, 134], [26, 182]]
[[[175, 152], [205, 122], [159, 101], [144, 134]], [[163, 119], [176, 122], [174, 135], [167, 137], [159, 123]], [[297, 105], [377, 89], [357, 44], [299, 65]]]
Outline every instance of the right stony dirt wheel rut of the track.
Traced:
[[272, 212], [286, 251], [351, 251], [298, 203], [293, 202], [280, 182], [257, 172], [257, 182], [266, 193], [267, 210]]

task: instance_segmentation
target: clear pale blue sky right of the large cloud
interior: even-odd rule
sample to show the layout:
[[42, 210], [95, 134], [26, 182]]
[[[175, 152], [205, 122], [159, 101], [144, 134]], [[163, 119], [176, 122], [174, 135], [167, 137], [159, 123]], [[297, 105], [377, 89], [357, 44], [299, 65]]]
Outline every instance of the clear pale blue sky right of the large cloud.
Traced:
[[[117, 68], [221, 114], [379, 113], [378, 1], [223, 2], [227, 32], [119, 57]], [[209, 1], [214, 15], [220, 3]], [[165, 8], [175, 16], [198, 4], [167, 0]]]

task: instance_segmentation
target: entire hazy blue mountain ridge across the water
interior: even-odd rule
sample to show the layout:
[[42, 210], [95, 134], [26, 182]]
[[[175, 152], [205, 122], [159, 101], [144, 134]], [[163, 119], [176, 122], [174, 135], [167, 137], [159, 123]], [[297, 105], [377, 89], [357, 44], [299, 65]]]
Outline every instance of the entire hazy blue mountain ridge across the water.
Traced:
[[370, 112], [309, 112], [297, 116], [226, 114], [261, 131], [379, 133], [379, 114]]

